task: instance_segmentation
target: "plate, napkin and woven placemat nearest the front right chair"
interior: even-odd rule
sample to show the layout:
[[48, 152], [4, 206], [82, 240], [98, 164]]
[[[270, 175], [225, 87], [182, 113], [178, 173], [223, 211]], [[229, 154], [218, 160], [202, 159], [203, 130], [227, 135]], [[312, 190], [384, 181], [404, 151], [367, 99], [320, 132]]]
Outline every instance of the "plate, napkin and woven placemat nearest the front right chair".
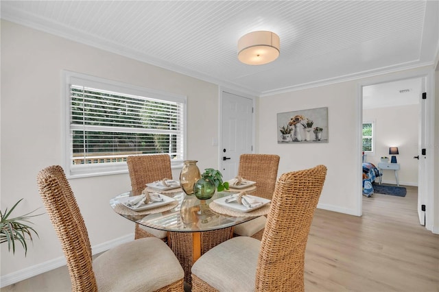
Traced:
[[270, 210], [270, 199], [248, 195], [242, 191], [220, 197], [209, 204], [211, 210], [235, 217], [253, 217], [267, 215]]

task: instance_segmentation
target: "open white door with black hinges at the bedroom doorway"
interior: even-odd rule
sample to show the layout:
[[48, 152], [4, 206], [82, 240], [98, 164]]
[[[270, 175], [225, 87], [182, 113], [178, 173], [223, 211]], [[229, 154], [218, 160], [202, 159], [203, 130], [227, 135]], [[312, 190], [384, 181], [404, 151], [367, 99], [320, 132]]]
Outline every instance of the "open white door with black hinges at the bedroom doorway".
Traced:
[[427, 102], [423, 99], [423, 93], [426, 91], [426, 78], [422, 79], [422, 90], [419, 101], [419, 139], [418, 139], [418, 217], [419, 223], [425, 226], [425, 208], [427, 195], [427, 175], [425, 173], [426, 156], [423, 155], [426, 141], [426, 125], [427, 125]]

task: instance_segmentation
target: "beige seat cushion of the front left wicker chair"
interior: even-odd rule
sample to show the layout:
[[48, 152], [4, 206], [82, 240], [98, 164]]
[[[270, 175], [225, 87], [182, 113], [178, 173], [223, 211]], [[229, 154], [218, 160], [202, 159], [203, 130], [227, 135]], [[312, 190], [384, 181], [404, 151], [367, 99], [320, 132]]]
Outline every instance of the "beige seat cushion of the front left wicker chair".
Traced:
[[185, 276], [171, 249], [154, 237], [123, 243], [93, 260], [99, 291], [156, 291]]

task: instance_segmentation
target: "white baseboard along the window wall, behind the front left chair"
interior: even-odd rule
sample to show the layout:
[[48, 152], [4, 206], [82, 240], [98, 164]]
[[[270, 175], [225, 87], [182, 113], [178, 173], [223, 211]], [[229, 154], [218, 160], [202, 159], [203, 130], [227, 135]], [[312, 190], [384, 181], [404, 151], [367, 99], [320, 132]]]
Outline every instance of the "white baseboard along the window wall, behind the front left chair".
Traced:
[[[116, 247], [122, 243], [127, 243], [134, 240], [134, 233], [128, 234], [126, 236], [121, 236], [117, 239], [113, 239], [111, 241], [107, 241], [105, 243], [100, 243], [92, 247], [93, 254], [99, 254], [101, 252], [105, 252], [112, 247]], [[45, 273], [47, 271], [51, 271], [58, 267], [62, 267], [66, 265], [66, 259], [64, 256], [60, 256], [59, 258], [54, 258], [53, 260], [47, 260], [45, 263], [40, 263], [38, 265], [33, 265], [32, 267], [27, 267], [25, 269], [21, 269], [20, 271], [14, 271], [13, 273], [8, 273], [8, 275], [0, 277], [0, 288], [9, 286], [16, 282], [20, 282], [26, 280], [28, 278], [32, 278], [34, 276], [39, 275], [40, 273]]]

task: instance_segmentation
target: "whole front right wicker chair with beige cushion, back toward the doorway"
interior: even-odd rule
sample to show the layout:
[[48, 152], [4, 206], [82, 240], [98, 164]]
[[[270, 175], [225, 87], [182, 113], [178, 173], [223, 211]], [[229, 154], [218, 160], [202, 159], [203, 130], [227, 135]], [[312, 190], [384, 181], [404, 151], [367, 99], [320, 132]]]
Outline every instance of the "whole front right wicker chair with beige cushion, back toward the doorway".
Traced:
[[262, 241], [238, 236], [192, 267], [192, 291], [305, 291], [305, 248], [327, 168], [284, 173], [276, 182]]

